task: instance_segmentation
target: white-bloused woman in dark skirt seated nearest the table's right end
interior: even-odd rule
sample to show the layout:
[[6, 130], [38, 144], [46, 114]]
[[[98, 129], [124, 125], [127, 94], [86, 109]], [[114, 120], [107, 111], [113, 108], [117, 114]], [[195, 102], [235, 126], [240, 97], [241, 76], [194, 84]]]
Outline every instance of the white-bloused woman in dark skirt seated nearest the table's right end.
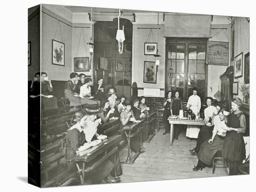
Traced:
[[205, 141], [206, 139], [208, 139], [212, 134], [212, 131], [214, 128], [212, 118], [213, 118], [214, 111], [216, 111], [216, 107], [212, 106], [212, 101], [213, 101], [212, 97], [206, 97], [206, 103], [207, 103], [208, 107], [204, 109], [205, 125], [202, 126], [202, 128], [200, 129], [200, 131], [198, 133], [195, 148], [189, 150], [189, 152], [191, 154], [197, 153], [200, 149], [202, 142]]

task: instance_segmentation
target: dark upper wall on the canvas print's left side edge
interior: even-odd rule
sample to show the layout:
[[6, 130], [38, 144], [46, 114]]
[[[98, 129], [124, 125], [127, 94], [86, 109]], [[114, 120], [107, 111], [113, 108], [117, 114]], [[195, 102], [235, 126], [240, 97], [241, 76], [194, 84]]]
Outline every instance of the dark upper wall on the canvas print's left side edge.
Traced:
[[28, 9], [28, 42], [31, 41], [31, 65], [28, 66], [28, 80], [40, 71], [40, 6]]

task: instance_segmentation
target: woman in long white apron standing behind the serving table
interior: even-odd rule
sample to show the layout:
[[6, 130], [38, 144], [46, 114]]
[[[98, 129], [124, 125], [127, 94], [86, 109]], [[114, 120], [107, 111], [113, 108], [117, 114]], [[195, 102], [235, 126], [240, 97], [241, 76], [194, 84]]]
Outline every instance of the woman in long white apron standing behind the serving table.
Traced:
[[[195, 115], [200, 112], [201, 109], [201, 99], [197, 94], [197, 88], [193, 88], [193, 95], [189, 97], [189, 101], [187, 103], [187, 108], [191, 109]], [[188, 125], [186, 137], [197, 138], [198, 133], [200, 131], [200, 126], [198, 125]]]

